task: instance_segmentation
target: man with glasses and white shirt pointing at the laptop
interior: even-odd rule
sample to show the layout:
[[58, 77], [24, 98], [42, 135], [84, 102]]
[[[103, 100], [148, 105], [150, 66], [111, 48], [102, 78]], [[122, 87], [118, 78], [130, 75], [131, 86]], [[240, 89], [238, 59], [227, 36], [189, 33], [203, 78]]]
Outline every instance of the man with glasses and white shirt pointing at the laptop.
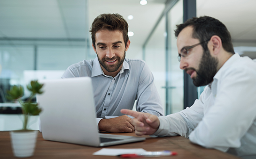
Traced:
[[168, 116], [122, 109], [137, 135], [189, 137], [206, 148], [256, 158], [256, 63], [234, 53], [225, 25], [209, 16], [175, 30], [180, 68], [205, 86], [190, 108]]

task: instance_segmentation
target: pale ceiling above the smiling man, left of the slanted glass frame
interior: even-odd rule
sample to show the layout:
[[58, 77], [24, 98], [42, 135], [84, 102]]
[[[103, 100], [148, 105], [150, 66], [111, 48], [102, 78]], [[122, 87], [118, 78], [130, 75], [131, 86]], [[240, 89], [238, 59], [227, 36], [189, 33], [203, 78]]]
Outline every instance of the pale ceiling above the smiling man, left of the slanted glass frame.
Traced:
[[[94, 18], [119, 13], [129, 24], [132, 43], [142, 45], [163, 11], [165, 0], [88, 0], [85, 30], [85, 0], [0, 0], [0, 38], [85, 38]], [[128, 20], [128, 15], [133, 20]], [[90, 35], [89, 35], [90, 38]]]

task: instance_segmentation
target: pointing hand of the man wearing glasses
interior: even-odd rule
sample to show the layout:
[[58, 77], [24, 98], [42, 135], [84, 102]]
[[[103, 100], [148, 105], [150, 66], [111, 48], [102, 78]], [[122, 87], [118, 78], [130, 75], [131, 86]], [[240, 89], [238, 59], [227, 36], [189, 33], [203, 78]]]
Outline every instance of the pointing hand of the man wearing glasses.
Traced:
[[135, 127], [136, 135], [152, 135], [159, 128], [160, 121], [155, 115], [129, 109], [121, 109], [121, 113], [134, 117], [132, 125]]

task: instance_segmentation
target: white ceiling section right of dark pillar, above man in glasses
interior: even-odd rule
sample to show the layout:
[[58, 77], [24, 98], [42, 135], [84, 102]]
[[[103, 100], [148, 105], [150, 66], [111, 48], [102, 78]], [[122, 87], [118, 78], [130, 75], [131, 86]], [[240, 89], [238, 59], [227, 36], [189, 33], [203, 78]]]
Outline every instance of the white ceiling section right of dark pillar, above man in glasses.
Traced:
[[197, 16], [223, 22], [235, 40], [256, 40], [256, 0], [197, 0]]

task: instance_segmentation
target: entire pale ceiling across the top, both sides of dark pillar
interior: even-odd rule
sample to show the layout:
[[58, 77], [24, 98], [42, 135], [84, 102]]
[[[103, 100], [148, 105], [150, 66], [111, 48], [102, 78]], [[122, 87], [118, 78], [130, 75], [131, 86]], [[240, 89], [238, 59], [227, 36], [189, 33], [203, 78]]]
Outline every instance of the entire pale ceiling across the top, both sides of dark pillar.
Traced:
[[[88, 23], [119, 13], [129, 23], [133, 45], [142, 46], [166, 0], [88, 0]], [[222, 21], [237, 42], [256, 42], [256, 0], [197, 0], [197, 16]], [[133, 20], [127, 16], [132, 14]], [[0, 0], [0, 38], [85, 38], [85, 0]], [[163, 36], [163, 35], [161, 35]], [[90, 35], [89, 35], [90, 38]]]

